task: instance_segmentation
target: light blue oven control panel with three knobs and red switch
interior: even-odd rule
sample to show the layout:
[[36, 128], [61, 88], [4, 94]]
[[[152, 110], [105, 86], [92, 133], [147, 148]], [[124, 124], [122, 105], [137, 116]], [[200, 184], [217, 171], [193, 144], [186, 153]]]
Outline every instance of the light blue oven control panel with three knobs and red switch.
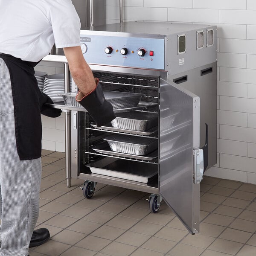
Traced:
[[165, 69], [163, 38], [80, 35], [88, 64]]

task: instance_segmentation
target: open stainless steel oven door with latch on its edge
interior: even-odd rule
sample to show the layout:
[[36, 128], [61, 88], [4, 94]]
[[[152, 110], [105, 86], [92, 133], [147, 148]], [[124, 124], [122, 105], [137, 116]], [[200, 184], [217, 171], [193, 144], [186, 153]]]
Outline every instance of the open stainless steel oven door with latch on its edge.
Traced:
[[191, 233], [199, 231], [200, 180], [195, 169], [200, 166], [194, 159], [200, 145], [199, 117], [198, 96], [160, 79], [160, 195]]

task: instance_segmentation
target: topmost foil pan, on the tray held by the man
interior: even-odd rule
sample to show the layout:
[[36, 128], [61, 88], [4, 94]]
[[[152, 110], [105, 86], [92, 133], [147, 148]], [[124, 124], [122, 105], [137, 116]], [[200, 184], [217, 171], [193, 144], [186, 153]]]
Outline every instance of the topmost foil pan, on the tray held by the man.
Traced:
[[145, 95], [141, 93], [125, 93], [117, 91], [104, 91], [105, 99], [111, 103], [113, 109], [134, 108]]

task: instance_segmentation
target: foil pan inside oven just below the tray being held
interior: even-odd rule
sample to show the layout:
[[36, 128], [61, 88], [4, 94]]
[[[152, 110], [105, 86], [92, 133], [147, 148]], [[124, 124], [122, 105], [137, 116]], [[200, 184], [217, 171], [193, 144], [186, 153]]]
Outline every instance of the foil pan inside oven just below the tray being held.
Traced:
[[157, 126], [158, 114], [143, 111], [116, 113], [116, 118], [111, 121], [114, 128], [133, 131], [147, 131]]

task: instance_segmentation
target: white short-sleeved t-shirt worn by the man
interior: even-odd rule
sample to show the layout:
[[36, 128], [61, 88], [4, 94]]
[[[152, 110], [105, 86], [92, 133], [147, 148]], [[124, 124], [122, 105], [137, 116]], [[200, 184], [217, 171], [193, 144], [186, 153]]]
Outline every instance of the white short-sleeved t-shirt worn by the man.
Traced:
[[40, 61], [57, 48], [80, 45], [81, 23], [71, 0], [0, 0], [0, 52]]

